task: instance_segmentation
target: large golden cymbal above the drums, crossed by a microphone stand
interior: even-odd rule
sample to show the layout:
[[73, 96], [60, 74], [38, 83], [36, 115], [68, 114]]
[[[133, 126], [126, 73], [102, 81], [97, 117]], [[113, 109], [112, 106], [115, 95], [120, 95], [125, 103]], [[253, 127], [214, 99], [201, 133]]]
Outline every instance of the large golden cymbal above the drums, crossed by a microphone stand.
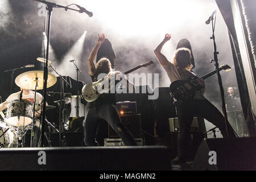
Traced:
[[[24, 72], [15, 78], [15, 84], [20, 88], [35, 90], [36, 78], [38, 78], [37, 90], [43, 89], [44, 72], [43, 71], [29, 71]], [[52, 73], [48, 73], [47, 88], [54, 85], [57, 81], [57, 77]]]

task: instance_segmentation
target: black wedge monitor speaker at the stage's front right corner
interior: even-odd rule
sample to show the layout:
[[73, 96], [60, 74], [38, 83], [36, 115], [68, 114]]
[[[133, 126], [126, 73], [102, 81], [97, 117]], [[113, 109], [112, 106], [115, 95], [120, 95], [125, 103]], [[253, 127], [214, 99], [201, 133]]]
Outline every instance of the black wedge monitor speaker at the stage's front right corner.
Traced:
[[197, 150], [197, 171], [256, 170], [256, 138], [204, 139]]

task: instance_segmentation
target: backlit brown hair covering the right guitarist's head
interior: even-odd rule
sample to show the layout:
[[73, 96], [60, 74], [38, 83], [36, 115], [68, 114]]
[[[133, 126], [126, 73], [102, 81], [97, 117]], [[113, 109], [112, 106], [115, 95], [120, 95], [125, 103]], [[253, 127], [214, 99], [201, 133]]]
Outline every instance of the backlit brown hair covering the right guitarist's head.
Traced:
[[178, 48], [174, 53], [172, 63], [176, 65], [177, 69], [185, 68], [191, 71], [193, 65], [191, 64], [191, 51], [188, 48]]

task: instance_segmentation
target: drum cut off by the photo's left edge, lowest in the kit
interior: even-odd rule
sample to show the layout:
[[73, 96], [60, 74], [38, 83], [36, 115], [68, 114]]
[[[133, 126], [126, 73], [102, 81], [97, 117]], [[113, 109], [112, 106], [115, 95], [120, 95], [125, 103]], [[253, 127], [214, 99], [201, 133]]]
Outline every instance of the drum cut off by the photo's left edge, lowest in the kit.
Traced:
[[11, 147], [18, 147], [18, 139], [14, 131], [0, 121], [0, 148]]

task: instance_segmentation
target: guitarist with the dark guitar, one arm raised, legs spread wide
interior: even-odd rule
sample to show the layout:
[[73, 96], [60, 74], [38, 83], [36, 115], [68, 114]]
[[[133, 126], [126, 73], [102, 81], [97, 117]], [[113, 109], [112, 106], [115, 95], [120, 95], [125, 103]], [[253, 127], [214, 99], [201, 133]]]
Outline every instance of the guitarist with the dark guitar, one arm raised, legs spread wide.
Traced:
[[[191, 76], [195, 76], [191, 72], [191, 51], [188, 48], [178, 48], [174, 54], [172, 61], [168, 61], [166, 56], [161, 53], [164, 44], [171, 39], [170, 34], [164, 36], [163, 41], [155, 48], [155, 56], [159, 63], [163, 66], [171, 83], [176, 80], [187, 80]], [[178, 156], [172, 161], [174, 164], [182, 164], [186, 162], [189, 130], [193, 117], [203, 117], [213, 125], [217, 126], [223, 137], [228, 137], [225, 130], [225, 119], [220, 111], [204, 97], [205, 84], [202, 78], [196, 81], [201, 85], [202, 89], [197, 90], [191, 100], [175, 100], [177, 118], [179, 122], [178, 134]], [[229, 137], [236, 137], [232, 127], [228, 123]]]

